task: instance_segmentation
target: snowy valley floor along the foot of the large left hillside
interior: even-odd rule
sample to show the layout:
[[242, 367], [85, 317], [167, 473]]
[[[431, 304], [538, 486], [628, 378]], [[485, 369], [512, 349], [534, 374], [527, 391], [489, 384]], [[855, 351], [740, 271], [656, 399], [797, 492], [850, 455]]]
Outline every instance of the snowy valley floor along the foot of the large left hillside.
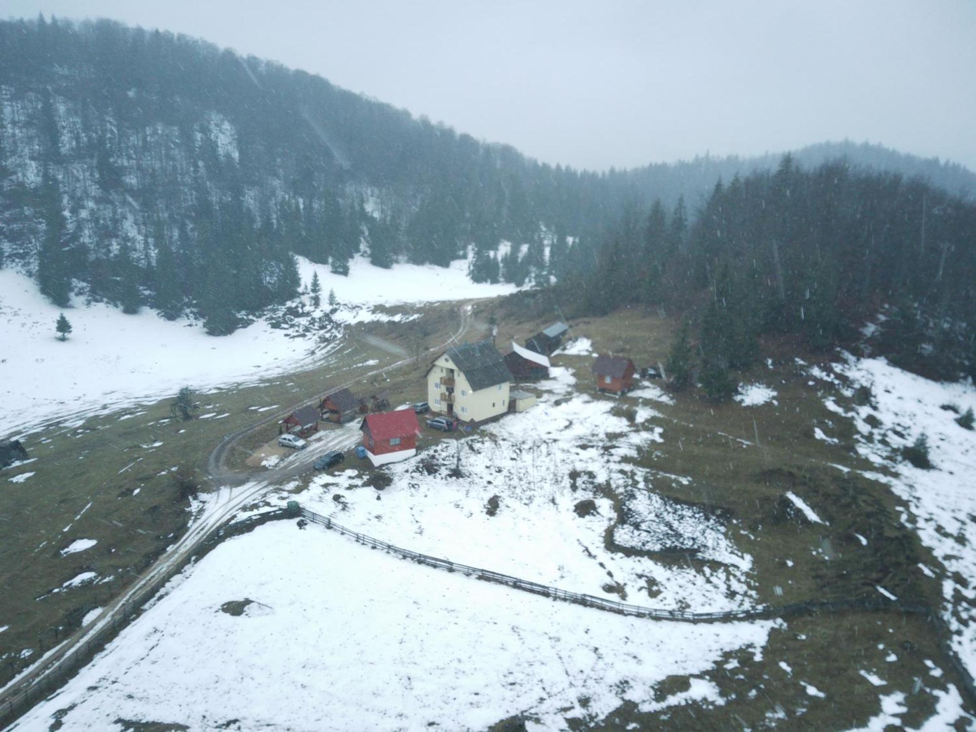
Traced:
[[[318, 271], [323, 305], [335, 290], [340, 302], [335, 319], [348, 325], [391, 317], [374, 311], [376, 305], [486, 297], [513, 289], [472, 283], [467, 264], [381, 269], [357, 258], [348, 277], [307, 261], [300, 269], [306, 285], [312, 269]], [[125, 315], [110, 305], [85, 306], [77, 298], [74, 305], [64, 310], [72, 332], [61, 342], [55, 332], [61, 308], [41, 296], [31, 278], [0, 270], [0, 436], [162, 398], [181, 386], [206, 390], [295, 371], [326, 358], [339, 343], [338, 338], [327, 344], [311, 335], [295, 338], [264, 320], [214, 338], [198, 323], [170, 322], [148, 308]]]

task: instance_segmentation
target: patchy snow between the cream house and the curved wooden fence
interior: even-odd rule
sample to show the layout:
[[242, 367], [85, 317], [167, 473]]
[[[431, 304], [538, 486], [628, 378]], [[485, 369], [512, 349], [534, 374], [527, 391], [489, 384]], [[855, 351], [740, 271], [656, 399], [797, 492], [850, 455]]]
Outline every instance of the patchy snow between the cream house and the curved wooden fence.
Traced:
[[[349, 462], [297, 498], [391, 544], [564, 590], [671, 609], [751, 606], [752, 559], [733, 543], [739, 528], [654, 492], [659, 481], [680, 486], [687, 478], [630, 462], [667, 438], [653, 424], [656, 412], [641, 406], [630, 425], [614, 414], [617, 400], [577, 393], [569, 369], [550, 373], [536, 407], [387, 468], [392, 482], [380, 500]], [[461, 476], [452, 476], [459, 466]], [[294, 498], [283, 491], [277, 500]], [[681, 561], [610, 550], [612, 526], [617, 545], [678, 551]], [[696, 571], [686, 552], [712, 561]]]

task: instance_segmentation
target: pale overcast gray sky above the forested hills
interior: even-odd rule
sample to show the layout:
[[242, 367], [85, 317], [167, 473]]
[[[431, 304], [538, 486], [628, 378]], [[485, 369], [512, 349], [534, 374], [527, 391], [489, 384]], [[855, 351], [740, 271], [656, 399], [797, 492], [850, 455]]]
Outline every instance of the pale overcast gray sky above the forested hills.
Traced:
[[319, 73], [474, 137], [605, 169], [881, 142], [976, 170], [976, 0], [4, 0]]

